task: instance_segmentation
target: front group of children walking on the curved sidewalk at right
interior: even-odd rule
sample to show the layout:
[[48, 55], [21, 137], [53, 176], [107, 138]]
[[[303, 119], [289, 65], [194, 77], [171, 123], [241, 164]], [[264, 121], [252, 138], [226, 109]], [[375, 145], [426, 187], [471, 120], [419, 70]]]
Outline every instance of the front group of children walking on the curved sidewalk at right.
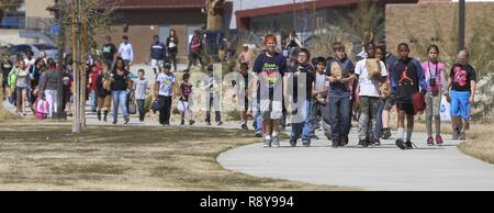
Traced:
[[436, 45], [427, 48], [428, 58], [420, 63], [409, 57], [405, 43], [397, 46], [397, 57], [385, 51], [384, 42], [378, 45], [368, 43], [364, 58], [353, 65], [347, 58], [345, 45], [335, 42], [333, 57], [314, 57], [311, 64], [310, 52], [300, 48], [293, 66], [287, 65], [285, 57], [276, 52], [276, 36], [267, 35], [265, 46], [266, 51], [255, 61], [252, 82], [247, 83], [254, 87], [248, 100], [258, 102], [251, 104], [252, 113], [261, 115], [261, 122], [256, 115], [254, 117], [255, 124], [261, 123], [262, 130], [262, 134], [256, 131], [256, 136], [262, 136], [265, 147], [280, 146], [278, 134], [284, 114], [292, 115], [291, 146], [296, 146], [297, 139], [302, 139], [303, 146], [310, 146], [322, 120], [332, 147], [346, 146], [353, 107], [360, 113], [360, 147], [379, 146], [381, 138], [390, 138], [390, 111], [393, 107], [397, 112], [397, 147], [413, 148], [414, 116], [423, 111], [426, 114], [427, 145], [442, 145], [439, 114], [442, 94], [451, 102], [453, 139], [465, 138], [476, 81], [465, 51], [458, 54], [458, 61], [446, 81], [446, 67], [438, 60], [439, 48]]

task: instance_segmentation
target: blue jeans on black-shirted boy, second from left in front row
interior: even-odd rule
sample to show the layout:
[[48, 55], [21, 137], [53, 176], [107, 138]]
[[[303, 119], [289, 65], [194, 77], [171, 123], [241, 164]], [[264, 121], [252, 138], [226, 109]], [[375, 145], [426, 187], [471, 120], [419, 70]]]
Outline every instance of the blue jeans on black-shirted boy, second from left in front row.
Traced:
[[[311, 141], [311, 131], [312, 131], [312, 98], [308, 98], [303, 101], [303, 103], [297, 105], [296, 114], [292, 115], [292, 119], [302, 121], [294, 123], [292, 121], [292, 134], [290, 135], [290, 139], [296, 141], [300, 138], [302, 133], [302, 141]], [[301, 117], [300, 117], [301, 116]]]

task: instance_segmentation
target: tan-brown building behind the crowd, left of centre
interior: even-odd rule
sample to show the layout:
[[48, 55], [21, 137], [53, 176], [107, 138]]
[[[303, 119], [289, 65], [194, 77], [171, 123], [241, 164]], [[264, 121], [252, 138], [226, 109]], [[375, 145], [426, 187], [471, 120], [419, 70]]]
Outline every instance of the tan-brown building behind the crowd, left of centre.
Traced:
[[[206, 14], [204, 0], [122, 0], [115, 12], [115, 22], [110, 27], [112, 42], [119, 47], [123, 35], [134, 48], [134, 64], [148, 63], [149, 47], [153, 36], [159, 35], [166, 42], [170, 29], [176, 30], [179, 40], [178, 60], [187, 63], [188, 45], [194, 30], [205, 25]], [[232, 3], [227, 2], [225, 13], [232, 13]], [[225, 19], [227, 27], [229, 19]], [[124, 24], [128, 31], [124, 33]], [[104, 43], [105, 35], [97, 35], [99, 46]]]

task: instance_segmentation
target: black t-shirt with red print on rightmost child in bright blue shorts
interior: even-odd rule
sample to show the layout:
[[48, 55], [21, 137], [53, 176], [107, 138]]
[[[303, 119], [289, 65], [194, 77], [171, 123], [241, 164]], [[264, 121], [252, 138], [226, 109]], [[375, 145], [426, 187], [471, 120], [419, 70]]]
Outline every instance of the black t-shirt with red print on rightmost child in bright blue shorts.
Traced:
[[470, 81], [476, 81], [475, 69], [470, 65], [454, 64], [449, 74], [451, 89], [454, 91], [470, 91]]

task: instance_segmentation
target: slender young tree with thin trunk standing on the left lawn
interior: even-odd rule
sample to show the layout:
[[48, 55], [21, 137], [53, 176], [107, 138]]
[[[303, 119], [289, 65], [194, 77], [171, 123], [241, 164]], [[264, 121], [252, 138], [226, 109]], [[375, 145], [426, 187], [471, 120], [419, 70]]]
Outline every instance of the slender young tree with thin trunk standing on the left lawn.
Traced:
[[[57, 18], [55, 22], [61, 26], [63, 34], [57, 40], [58, 46], [70, 44], [72, 69], [75, 77], [74, 127], [72, 132], [80, 133], [86, 126], [86, 59], [88, 49], [96, 44], [89, 34], [104, 34], [113, 21], [112, 13], [120, 0], [70, 0], [57, 2]], [[70, 27], [69, 27], [70, 26]], [[71, 38], [71, 40], [66, 40]]]

